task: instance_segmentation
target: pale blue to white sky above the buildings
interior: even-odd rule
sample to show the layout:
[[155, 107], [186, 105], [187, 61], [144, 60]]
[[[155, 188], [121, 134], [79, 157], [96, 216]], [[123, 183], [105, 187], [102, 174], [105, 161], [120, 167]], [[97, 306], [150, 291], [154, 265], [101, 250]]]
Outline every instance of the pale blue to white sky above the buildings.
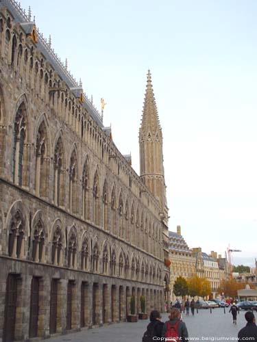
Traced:
[[162, 126], [169, 230], [257, 258], [257, 1], [21, 0], [139, 174], [147, 70]]

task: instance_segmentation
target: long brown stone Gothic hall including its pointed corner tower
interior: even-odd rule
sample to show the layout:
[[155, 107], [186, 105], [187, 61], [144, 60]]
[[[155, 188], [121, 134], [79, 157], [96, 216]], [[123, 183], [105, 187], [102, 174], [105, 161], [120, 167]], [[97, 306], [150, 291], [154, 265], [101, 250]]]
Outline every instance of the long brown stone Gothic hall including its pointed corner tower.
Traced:
[[0, 1], [0, 342], [124, 321], [131, 295], [162, 310], [157, 123], [148, 73], [138, 176], [30, 15]]

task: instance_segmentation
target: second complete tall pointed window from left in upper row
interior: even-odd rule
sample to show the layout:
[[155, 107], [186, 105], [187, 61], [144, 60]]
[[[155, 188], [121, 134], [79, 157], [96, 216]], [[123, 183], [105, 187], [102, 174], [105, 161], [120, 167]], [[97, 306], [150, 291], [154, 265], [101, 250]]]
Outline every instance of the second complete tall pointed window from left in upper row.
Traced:
[[47, 196], [49, 181], [49, 158], [47, 127], [42, 121], [36, 136], [36, 195]]

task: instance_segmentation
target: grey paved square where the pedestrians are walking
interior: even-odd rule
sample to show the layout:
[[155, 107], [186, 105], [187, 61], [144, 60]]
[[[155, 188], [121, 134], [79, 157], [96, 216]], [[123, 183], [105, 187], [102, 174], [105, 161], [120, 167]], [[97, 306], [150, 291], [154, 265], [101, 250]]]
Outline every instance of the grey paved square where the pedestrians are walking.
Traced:
[[[255, 313], [256, 316], [256, 313]], [[168, 319], [167, 314], [162, 315], [162, 320]], [[199, 341], [215, 341], [213, 337], [237, 337], [238, 331], [245, 326], [245, 311], [238, 315], [237, 325], [232, 323], [232, 315], [228, 309], [223, 308], [210, 310], [199, 310], [195, 316], [186, 317], [182, 314], [182, 320], [186, 323], [190, 337], [198, 337]], [[143, 332], [146, 329], [148, 321], [138, 321], [137, 323], [117, 323], [82, 330], [71, 334], [61, 335], [51, 338], [53, 342], [141, 342]], [[218, 340], [218, 339], [217, 339]], [[226, 339], [225, 341], [230, 341]]]

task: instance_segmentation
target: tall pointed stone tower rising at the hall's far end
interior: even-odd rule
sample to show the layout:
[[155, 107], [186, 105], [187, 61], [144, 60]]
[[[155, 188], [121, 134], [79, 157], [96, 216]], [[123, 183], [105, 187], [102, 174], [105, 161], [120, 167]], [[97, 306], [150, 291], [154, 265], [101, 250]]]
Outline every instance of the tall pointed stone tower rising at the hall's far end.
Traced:
[[158, 117], [154, 90], [151, 85], [151, 73], [147, 74], [147, 89], [141, 127], [139, 129], [140, 178], [150, 192], [160, 202], [160, 219], [168, 223], [166, 185], [164, 180], [162, 155], [162, 129]]

